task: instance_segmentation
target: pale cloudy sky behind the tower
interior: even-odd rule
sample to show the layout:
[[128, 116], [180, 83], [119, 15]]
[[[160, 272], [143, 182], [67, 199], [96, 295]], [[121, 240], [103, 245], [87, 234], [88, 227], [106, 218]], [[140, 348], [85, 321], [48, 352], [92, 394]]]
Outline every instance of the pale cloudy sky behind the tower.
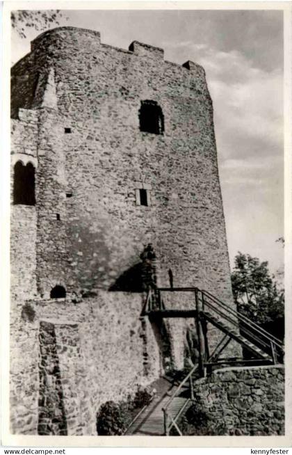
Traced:
[[[283, 13], [277, 10], [64, 10], [60, 25], [100, 31], [127, 49], [163, 47], [165, 60], [206, 71], [213, 99], [230, 264], [238, 251], [282, 267], [284, 231]], [[29, 52], [13, 31], [13, 62]]]

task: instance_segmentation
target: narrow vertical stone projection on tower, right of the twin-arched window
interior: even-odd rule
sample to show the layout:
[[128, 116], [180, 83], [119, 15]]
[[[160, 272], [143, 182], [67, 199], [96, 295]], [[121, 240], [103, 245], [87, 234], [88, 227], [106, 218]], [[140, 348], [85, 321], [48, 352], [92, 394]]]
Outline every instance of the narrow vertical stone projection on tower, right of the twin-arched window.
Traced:
[[36, 188], [38, 232], [36, 239], [38, 293], [49, 298], [56, 285], [70, 292], [70, 237], [65, 212], [65, 155], [62, 125], [53, 109], [39, 109], [38, 185]]

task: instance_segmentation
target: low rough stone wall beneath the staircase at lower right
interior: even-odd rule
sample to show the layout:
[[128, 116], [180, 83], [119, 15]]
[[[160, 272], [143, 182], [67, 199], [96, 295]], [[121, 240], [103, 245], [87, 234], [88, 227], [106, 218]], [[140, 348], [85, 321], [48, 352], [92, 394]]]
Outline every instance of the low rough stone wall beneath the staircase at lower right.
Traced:
[[194, 409], [209, 434], [283, 435], [284, 398], [283, 365], [225, 368], [197, 381]]

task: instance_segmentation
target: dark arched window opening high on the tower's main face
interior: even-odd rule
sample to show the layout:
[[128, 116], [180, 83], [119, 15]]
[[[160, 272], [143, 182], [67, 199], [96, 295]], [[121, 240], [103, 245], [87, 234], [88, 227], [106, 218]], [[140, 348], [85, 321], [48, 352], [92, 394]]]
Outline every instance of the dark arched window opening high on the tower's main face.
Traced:
[[139, 111], [140, 131], [163, 134], [164, 119], [162, 109], [156, 101], [145, 99], [141, 101]]

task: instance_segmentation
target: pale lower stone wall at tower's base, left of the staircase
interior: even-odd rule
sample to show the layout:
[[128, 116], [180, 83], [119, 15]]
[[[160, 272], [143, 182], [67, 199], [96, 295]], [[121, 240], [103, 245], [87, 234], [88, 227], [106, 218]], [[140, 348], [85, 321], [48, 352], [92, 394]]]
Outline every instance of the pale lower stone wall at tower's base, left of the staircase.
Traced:
[[17, 307], [13, 433], [94, 436], [99, 406], [133, 396], [163, 374], [161, 331], [140, 318], [141, 303], [140, 294], [100, 291], [75, 303], [31, 300]]

